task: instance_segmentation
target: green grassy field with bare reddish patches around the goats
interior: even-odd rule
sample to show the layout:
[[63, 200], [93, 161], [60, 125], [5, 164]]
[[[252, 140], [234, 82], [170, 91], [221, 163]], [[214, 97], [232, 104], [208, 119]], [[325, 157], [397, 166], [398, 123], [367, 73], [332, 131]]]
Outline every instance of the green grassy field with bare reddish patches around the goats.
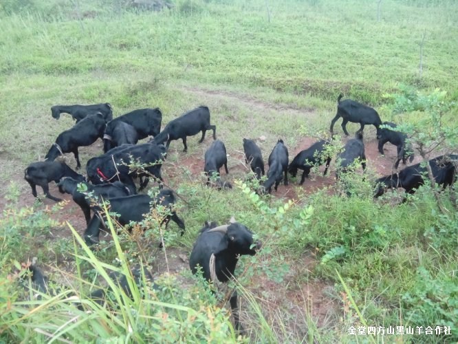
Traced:
[[[24, 292], [13, 283], [14, 266], [31, 257], [38, 257], [47, 274], [78, 295], [87, 293], [87, 281], [107, 280], [103, 264], [116, 266], [116, 259], [141, 260], [164, 272], [164, 252], [155, 248], [158, 234], [153, 230], [140, 239], [121, 236], [122, 249], [107, 239], [91, 257], [74, 244], [64, 223], [69, 220], [83, 233], [79, 209], [65, 204], [51, 210], [49, 200], [34, 202], [23, 170], [43, 160], [58, 133], [73, 125], [68, 115], [58, 121], [51, 117], [50, 107], [57, 104], [109, 102], [114, 116], [160, 107], [163, 125], [207, 105], [230, 155], [230, 175], [223, 178], [232, 181], [246, 175], [242, 138], [265, 136], [260, 144], [265, 160], [283, 138], [292, 160], [305, 140], [329, 129], [340, 93], [375, 107], [382, 120], [419, 123], [428, 111], [395, 114], [390, 95], [401, 94], [402, 87], [420, 96], [440, 89], [446, 94], [439, 107], [446, 109], [446, 126], [456, 133], [455, 1], [380, 4], [380, 21], [377, 1], [363, 0], [176, 0], [173, 8], [161, 12], [138, 12], [120, 0], [0, 4], [0, 300], [8, 301], [0, 305], [0, 341], [28, 341], [31, 336], [37, 343], [78, 341], [80, 334], [95, 341], [94, 331], [119, 341], [241, 341], [212, 295], [181, 287], [182, 279], [193, 284], [189, 272], [173, 271], [165, 278], [165, 296], [148, 294], [144, 303], [141, 297], [123, 299], [141, 314], [137, 322], [129, 312], [113, 316], [88, 301], [95, 315], [80, 314], [67, 328], [65, 321], [72, 316], [54, 319], [52, 312], [75, 313], [58, 297], [21, 301]], [[357, 128], [348, 126], [351, 133]], [[340, 122], [335, 131], [340, 133]], [[364, 136], [367, 149], [376, 147], [373, 128]], [[436, 155], [456, 153], [456, 141], [456, 136], [446, 140]], [[272, 198], [257, 198], [241, 183], [232, 191], [216, 191], [206, 188], [199, 176], [210, 142], [207, 138], [199, 145], [197, 137], [190, 138], [188, 153], [182, 153], [181, 142], [171, 144], [163, 175], [187, 202], [178, 211], [187, 231], [176, 237], [177, 228], [171, 225], [168, 257], [173, 269], [187, 271], [179, 256], [189, 255], [208, 219], [223, 223], [236, 215], [259, 235], [263, 251], [241, 259], [238, 269], [243, 272], [238, 286], [246, 310], [242, 319], [250, 329], [247, 341], [457, 341], [456, 191], [440, 195], [447, 213], [427, 187], [405, 204], [393, 205], [391, 195], [374, 201], [371, 180], [386, 173], [378, 163], [388, 158], [369, 162], [367, 180], [355, 178], [358, 197], [338, 195], [334, 167], [329, 178], [314, 173], [303, 187], [293, 180], [290, 189], [281, 188]], [[100, 153], [100, 142], [81, 148], [83, 166]], [[67, 162], [76, 165], [70, 155]], [[312, 193], [312, 185], [320, 191]], [[288, 199], [294, 203], [284, 206]], [[140, 246], [148, 259], [138, 252]], [[135, 323], [133, 334], [127, 323]], [[450, 326], [452, 334], [351, 336], [347, 331], [351, 326], [390, 325]]]

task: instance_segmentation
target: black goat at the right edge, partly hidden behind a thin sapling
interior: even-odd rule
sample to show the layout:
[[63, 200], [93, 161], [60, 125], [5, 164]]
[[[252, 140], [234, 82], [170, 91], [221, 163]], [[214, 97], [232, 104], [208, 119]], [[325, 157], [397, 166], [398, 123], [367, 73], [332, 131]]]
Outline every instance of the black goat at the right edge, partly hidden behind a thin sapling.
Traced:
[[[444, 189], [455, 182], [457, 172], [458, 155], [439, 155], [429, 160], [429, 166], [433, 171], [434, 180]], [[428, 173], [426, 166], [415, 164], [402, 169], [399, 173], [386, 175], [375, 181], [375, 197], [380, 197], [386, 189], [403, 188], [406, 193], [413, 194], [419, 186], [424, 184], [423, 175]], [[427, 177], [426, 177], [427, 178]], [[405, 198], [404, 201], [405, 202]]]

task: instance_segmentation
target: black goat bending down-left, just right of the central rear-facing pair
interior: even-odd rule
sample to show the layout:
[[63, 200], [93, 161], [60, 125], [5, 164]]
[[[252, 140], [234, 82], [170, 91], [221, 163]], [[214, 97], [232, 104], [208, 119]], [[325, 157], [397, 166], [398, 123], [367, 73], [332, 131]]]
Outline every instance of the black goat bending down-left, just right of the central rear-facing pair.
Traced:
[[331, 163], [331, 157], [325, 157], [322, 154], [325, 151], [327, 144], [329, 144], [329, 141], [326, 140], [315, 142], [309, 148], [298, 153], [291, 162], [290, 166], [288, 166], [288, 172], [290, 172], [293, 177], [296, 177], [298, 169], [304, 171], [302, 173], [301, 182], [299, 183], [300, 185], [304, 183], [305, 177], [308, 178], [310, 169], [312, 169], [313, 166], [320, 166], [324, 162], [326, 162], [326, 168], [323, 175], [326, 175], [329, 164]]

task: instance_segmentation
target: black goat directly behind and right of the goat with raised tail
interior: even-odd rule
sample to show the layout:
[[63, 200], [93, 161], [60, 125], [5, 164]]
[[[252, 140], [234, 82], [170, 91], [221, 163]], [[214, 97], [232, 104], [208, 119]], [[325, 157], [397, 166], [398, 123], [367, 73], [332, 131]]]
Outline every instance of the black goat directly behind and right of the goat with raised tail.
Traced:
[[[384, 125], [389, 126], [391, 128], [395, 128], [396, 125], [391, 122], [383, 122]], [[399, 162], [402, 160], [402, 163], [405, 165], [408, 161], [412, 162], [414, 155], [413, 150], [410, 144], [407, 144], [406, 139], [407, 136], [405, 133], [401, 133], [400, 131], [394, 131], [388, 128], [380, 128], [377, 132], [377, 139], [378, 139], [378, 151], [380, 154], [383, 154], [383, 146], [386, 142], [390, 142], [394, 144], [397, 148], [397, 155], [395, 161], [395, 169], [399, 166]]]

